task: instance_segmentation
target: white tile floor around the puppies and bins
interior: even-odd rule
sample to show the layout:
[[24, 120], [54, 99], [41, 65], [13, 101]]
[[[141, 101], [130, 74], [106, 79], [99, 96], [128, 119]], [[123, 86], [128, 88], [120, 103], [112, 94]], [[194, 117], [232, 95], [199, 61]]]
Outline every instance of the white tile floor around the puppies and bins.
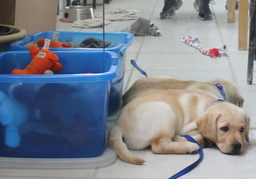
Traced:
[[[130, 65], [135, 59], [149, 76], [170, 76], [181, 80], [206, 81], [224, 78], [234, 81], [244, 95], [244, 108], [251, 117], [250, 145], [240, 156], [224, 155], [217, 149], [204, 149], [204, 159], [200, 165], [181, 177], [184, 179], [252, 179], [256, 176], [256, 111], [254, 104], [256, 82], [246, 84], [248, 51], [238, 51], [238, 12], [236, 22], [227, 23], [226, 1], [215, 0], [212, 6], [215, 19], [200, 23], [192, 4], [194, 0], [183, 0], [183, 6], [174, 20], [160, 20], [164, 0], [113, 0], [106, 9], [138, 9], [139, 16], [148, 18], [162, 31], [162, 37], [135, 37], [127, 51], [125, 89], [142, 75]], [[102, 11], [97, 5], [96, 11]], [[59, 18], [59, 17], [58, 17]], [[106, 31], [118, 32], [134, 21], [112, 22]], [[57, 30], [102, 32], [102, 28], [78, 29], [70, 24], [58, 22]], [[202, 46], [226, 44], [228, 57], [212, 59], [200, 54], [194, 48], [181, 42], [184, 36], [199, 35]], [[256, 77], [256, 76], [255, 76]], [[254, 78], [256, 79], [256, 78]], [[120, 159], [108, 167], [96, 169], [0, 169], [1, 179], [166, 179], [183, 169], [198, 157], [197, 155], [154, 155], [149, 150], [132, 151], [147, 162], [137, 166], [124, 163]]]

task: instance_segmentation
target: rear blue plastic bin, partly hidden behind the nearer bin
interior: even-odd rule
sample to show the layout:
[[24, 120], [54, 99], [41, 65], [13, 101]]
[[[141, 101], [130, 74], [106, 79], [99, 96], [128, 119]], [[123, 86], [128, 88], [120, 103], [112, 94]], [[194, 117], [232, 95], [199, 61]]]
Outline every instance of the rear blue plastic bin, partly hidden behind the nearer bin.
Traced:
[[[59, 32], [59, 42], [72, 41], [80, 44], [89, 37], [103, 40], [102, 32], [66, 32], [66, 31], [46, 31], [32, 34], [23, 40], [18, 40], [11, 44], [11, 50], [28, 50], [29, 43], [36, 44], [40, 38], [52, 39], [53, 32]], [[115, 52], [119, 57], [118, 72], [115, 79], [112, 80], [110, 88], [110, 103], [108, 115], [112, 115], [119, 107], [122, 101], [123, 82], [125, 72], [126, 49], [132, 44], [133, 34], [125, 32], [105, 32], [105, 41], [111, 42], [110, 47], [106, 51]], [[102, 48], [50, 48], [49, 50], [100, 50]]]

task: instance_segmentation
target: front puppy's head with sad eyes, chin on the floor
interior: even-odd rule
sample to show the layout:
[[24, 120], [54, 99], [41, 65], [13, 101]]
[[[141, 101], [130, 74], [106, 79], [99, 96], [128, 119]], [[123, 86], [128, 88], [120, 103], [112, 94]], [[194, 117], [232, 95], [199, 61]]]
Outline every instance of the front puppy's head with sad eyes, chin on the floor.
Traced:
[[249, 142], [250, 117], [231, 103], [214, 104], [196, 124], [201, 135], [216, 143], [222, 153], [240, 154], [244, 150], [244, 138]]

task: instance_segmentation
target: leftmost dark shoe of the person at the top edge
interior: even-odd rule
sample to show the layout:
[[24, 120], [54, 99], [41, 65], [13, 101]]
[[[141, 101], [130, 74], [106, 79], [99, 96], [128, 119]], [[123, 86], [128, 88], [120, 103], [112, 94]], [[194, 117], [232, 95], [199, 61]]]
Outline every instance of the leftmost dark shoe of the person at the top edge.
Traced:
[[181, 0], [164, 0], [164, 8], [160, 13], [161, 19], [171, 19], [174, 12], [182, 6]]

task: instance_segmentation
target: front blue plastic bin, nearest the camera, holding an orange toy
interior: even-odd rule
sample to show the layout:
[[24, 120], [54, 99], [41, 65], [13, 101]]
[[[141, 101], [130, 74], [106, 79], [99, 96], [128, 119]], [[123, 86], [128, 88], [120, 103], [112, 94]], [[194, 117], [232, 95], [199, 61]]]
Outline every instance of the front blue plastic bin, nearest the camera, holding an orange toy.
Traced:
[[[56, 51], [61, 72], [10, 75], [29, 52], [0, 54], [0, 157], [97, 157], [105, 146], [113, 52]], [[91, 72], [93, 74], [85, 74]]]

